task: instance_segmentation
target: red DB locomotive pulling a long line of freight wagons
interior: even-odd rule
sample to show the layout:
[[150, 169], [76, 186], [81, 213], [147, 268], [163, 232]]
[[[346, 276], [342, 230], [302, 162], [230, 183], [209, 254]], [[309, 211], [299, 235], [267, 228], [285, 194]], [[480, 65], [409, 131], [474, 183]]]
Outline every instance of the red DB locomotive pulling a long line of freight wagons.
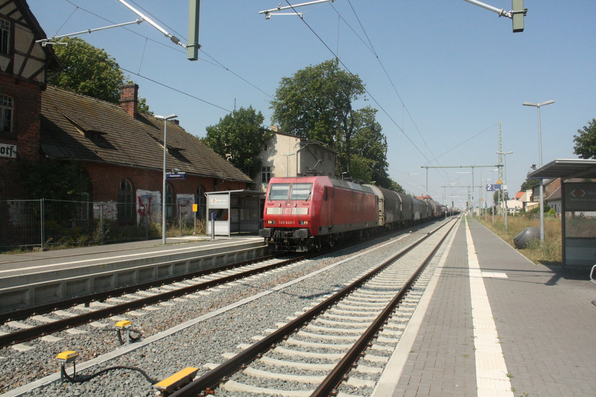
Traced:
[[280, 251], [304, 252], [445, 215], [436, 201], [327, 176], [274, 177], [259, 236]]

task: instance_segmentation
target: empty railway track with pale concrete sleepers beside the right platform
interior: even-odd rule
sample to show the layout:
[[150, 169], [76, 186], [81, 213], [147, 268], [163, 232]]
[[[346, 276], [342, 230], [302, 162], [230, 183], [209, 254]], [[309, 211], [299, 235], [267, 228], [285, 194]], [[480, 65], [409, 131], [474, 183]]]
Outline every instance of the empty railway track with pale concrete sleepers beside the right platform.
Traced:
[[172, 396], [204, 396], [216, 387], [221, 396], [354, 395], [342, 389], [373, 387], [366, 374], [382, 371], [401, 335], [392, 315], [415, 301], [409, 290], [454, 225], [443, 224], [258, 342], [240, 346], [242, 352]]

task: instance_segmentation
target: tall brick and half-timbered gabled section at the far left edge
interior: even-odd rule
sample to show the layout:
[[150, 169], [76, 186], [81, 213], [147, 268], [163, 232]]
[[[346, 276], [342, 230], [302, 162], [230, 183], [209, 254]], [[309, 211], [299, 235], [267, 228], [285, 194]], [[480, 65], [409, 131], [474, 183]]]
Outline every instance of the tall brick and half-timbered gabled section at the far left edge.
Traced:
[[0, 201], [20, 195], [17, 158], [39, 160], [41, 92], [60, 67], [24, 0], [0, 0]]

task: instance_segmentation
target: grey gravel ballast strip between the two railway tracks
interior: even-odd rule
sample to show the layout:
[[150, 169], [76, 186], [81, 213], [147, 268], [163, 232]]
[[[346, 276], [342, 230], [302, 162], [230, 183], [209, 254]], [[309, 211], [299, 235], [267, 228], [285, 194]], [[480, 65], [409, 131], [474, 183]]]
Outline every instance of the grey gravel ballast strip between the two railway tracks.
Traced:
[[[60, 374], [55, 373], [54, 357], [59, 351], [76, 350], [80, 354], [79, 360], [84, 360], [77, 362], [76, 368], [83, 373], [98, 371], [110, 365], [135, 364], [153, 379], [164, 379], [184, 366], [200, 368], [198, 374], [201, 376], [209, 371], [209, 368], [216, 366], [209, 363], [222, 362], [222, 353], [237, 352], [237, 345], [250, 343], [252, 340], [260, 339], [262, 336], [259, 335], [273, 332], [280, 326], [278, 322], [283, 321], [283, 318], [289, 319], [298, 312], [302, 314], [305, 305], [311, 308], [318, 304], [327, 298], [331, 291], [349, 283], [351, 277], [364, 274], [375, 266], [375, 263], [386, 260], [396, 250], [425, 236], [432, 227], [436, 226], [426, 226], [423, 230], [411, 229], [413, 232], [383, 237], [372, 246], [370, 243], [358, 244], [353, 248], [350, 246], [344, 248], [343, 252], [322, 255], [285, 268], [254, 274], [244, 280], [211, 287], [184, 298], [153, 304], [146, 310], [138, 310], [141, 317], [136, 317], [136, 311], [126, 312], [122, 316], [131, 320], [134, 327], [144, 334], [140, 340], [128, 346], [119, 347], [117, 340], [105, 334], [105, 331], [110, 330], [107, 328], [111, 320], [124, 320], [120, 316], [113, 316], [106, 319], [107, 321], [93, 321], [84, 326], [73, 327], [67, 332], [54, 334], [58, 337], [56, 339], [63, 338], [60, 341], [38, 338], [26, 343], [29, 345], [28, 350], [19, 350], [17, 347], [20, 346], [17, 345], [2, 349], [0, 362], [5, 365], [0, 371], [0, 393], [8, 392], [7, 397], [15, 397], [29, 395], [35, 390], [32, 395], [41, 397], [70, 390], [71, 393], [82, 393], [82, 397], [90, 397], [102, 395], [105, 390], [114, 390], [114, 394], [123, 396], [153, 396], [154, 391], [151, 390], [151, 385], [147, 384], [147, 380], [142, 377], [138, 379], [138, 376], [128, 377], [126, 372], [96, 377], [80, 386], [57, 382], [60, 380]], [[168, 285], [160, 290], [175, 287]], [[143, 292], [148, 294], [159, 290]], [[421, 292], [418, 293], [421, 295]], [[141, 295], [141, 291], [134, 295]], [[114, 299], [117, 301], [130, 298], [120, 296]], [[113, 304], [114, 299], [108, 299], [104, 304], [92, 304], [91, 308], [86, 310]], [[415, 305], [414, 300], [412, 305]], [[85, 308], [78, 306], [76, 310]], [[403, 309], [405, 314], [408, 310]], [[44, 315], [50, 316], [55, 317], [54, 314]], [[399, 321], [406, 320], [404, 318]], [[30, 318], [23, 322], [33, 323]], [[105, 328], [100, 327], [102, 324]], [[398, 327], [403, 327], [403, 323], [398, 324]], [[5, 330], [5, 326], [0, 327], [0, 331]], [[76, 335], [68, 335], [71, 330]], [[312, 331], [311, 329], [309, 332]], [[390, 331], [387, 329], [385, 332]], [[327, 353], [337, 354], [337, 351]], [[230, 357], [228, 354], [233, 355], [224, 354], [224, 361]], [[384, 354], [389, 355], [389, 352], [386, 351]], [[369, 357], [372, 355], [369, 354]], [[284, 360], [281, 355], [274, 358]], [[320, 359], [312, 360], [319, 364]], [[292, 360], [285, 357], [285, 361]], [[67, 371], [72, 373], [72, 369], [68, 368]], [[122, 379], [122, 382], [126, 380], [127, 386], [119, 389], [119, 379]], [[227, 392], [225, 389], [219, 390], [218, 394], [224, 392], [235, 397], [245, 395], [240, 392]]]

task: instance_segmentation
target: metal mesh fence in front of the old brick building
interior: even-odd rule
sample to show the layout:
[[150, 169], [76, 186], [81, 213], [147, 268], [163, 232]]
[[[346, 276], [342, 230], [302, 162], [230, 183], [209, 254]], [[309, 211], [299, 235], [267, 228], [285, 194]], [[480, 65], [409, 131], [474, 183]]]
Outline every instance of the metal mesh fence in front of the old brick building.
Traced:
[[[188, 202], [166, 204], [168, 236], [190, 235], [195, 215]], [[0, 201], [0, 249], [89, 245], [162, 236], [162, 204], [60, 200]]]

